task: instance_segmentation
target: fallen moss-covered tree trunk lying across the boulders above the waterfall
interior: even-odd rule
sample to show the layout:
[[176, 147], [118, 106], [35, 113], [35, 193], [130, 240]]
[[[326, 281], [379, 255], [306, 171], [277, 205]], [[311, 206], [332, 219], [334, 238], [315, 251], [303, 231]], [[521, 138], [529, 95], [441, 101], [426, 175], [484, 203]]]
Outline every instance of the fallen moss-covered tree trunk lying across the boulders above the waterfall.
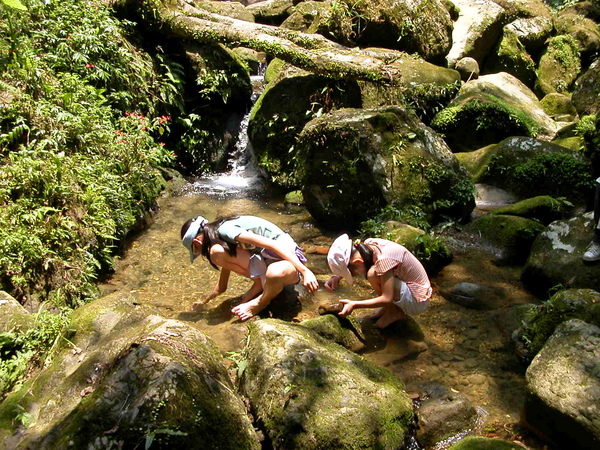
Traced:
[[196, 9], [184, 0], [115, 0], [114, 4], [133, 8], [147, 25], [162, 33], [200, 43], [248, 47], [316, 74], [384, 84], [401, 78], [398, 67], [388, 65], [402, 56], [400, 52], [388, 51], [389, 59], [383, 60], [379, 53], [375, 57], [319, 34], [221, 16]]

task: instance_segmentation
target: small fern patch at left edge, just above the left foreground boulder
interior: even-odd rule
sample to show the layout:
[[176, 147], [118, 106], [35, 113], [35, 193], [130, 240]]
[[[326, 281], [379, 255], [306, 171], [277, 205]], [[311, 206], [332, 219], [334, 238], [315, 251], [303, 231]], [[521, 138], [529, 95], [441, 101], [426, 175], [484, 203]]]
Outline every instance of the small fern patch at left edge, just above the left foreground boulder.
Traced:
[[[29, 328], [0, 333], [0, 395], [14, 388], [31, 369], [43, 365], [44, 357], [59, 341], [68, 320], [66, 311], [52, 314], [42, 310], [35, 314]], [[18, 420], [27, 419], [26, 413], [21, 412]]]

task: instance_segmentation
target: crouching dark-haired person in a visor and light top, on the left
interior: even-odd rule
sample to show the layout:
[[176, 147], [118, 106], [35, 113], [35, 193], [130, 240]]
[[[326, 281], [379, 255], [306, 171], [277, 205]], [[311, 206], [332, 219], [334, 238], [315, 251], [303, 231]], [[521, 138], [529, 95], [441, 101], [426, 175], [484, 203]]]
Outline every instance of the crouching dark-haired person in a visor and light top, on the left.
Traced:
[[262, 311], [288, 284], [302, 281], [308, 292], [319, 288], [292, 237], [260, 217], [229, 216], [209, 223], [198, 216], [183, 225], [181, 239], [192, 262], [203, 255], [213, 267], [221, 268], [213, 291], [206, 299], [195, 302], [192, 309], [225, 292], [232, 271], [254, 282], [242, 296], [242, 303], [231, 310], [241, 320]]

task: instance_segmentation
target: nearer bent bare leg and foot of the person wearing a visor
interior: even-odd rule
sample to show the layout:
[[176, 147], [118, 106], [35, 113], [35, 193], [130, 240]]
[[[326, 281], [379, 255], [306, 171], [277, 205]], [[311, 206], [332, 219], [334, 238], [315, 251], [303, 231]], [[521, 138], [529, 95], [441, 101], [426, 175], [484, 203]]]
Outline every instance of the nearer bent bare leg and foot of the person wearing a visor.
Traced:
[[237, 305], [231, 310], [240, 320], [248, 320], [265, 309], [271, 300], [288, 284], [298, 282], [298, 272], [289, 261], [277, 261], [267, 267], [263, 292], [258, 297]]

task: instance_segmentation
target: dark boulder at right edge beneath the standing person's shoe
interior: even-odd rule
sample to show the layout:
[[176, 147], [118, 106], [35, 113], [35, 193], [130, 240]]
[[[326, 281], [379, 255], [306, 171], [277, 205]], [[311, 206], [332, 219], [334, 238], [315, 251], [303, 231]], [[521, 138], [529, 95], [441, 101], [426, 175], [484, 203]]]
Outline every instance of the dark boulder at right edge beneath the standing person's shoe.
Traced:
[[559, 285], [600, 291], [600, 264], [582, 260], [593, 230], [592, 213], [548, 225], [533, 243], [523, 268], [521, 279], [528, 289], [542, 297]]

